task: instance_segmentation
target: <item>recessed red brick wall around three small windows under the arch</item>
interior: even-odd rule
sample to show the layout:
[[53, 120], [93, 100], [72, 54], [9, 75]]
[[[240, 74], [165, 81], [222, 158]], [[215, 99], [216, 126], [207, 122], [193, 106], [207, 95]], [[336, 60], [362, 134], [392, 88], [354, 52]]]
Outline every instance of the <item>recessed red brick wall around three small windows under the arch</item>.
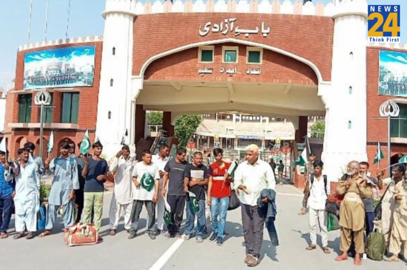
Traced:
[[[239, 47], [238, 63], [222, 64], [222, 46]], [[187, 80], [269, 82], [316, 85], [315, 72], [306, 64], [283, 54], [264, 50], [263, 64], [246, 64], [245, 45], [223, 43], [214, 47], [214, 63], [198, 63], [198, 48], [170, 54], [154, 61], [146, 70], [144, 78], [151, 80]], [[220, 68], [237, 68], [237, 74], [220, 73]], [[197, 76], [200, 68], [214, 68], [212, 74]], [[248, 68], [261, 68], [260, 75], [247, 75]]]

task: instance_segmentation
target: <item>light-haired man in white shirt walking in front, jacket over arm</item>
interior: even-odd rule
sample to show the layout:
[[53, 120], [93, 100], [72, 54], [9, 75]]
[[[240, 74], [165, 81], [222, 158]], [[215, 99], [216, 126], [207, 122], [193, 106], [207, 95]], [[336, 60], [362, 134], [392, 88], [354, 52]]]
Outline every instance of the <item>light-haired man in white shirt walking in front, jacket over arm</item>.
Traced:
[[[245, 237], [246, 258], [248, 266], [260, 262], [260, 249], [263, 243], [264, 215], [257, 207], [257, 199], [264, 189], [275, 190], [276, 179], [270, 165], [258, 159], [258, 146], [246, 147], [245, 161], [235, 172], [235, 189], [239, 192], [242, 206], [242, 225]], [[268, 199], [264, 198], [263, 202]]]

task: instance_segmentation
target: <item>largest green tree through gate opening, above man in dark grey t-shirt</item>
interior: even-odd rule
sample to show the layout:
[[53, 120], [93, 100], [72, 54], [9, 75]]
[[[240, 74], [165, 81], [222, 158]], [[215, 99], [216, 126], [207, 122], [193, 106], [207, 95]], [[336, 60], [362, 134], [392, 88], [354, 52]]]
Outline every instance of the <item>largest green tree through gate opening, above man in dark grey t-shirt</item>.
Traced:
[[196, 132], [201, 121], [200, 115], [196, 114], [184, 114], [177, 119], [174, 130], [180, 146], [185, 147], [187, 145], [189, 138]]

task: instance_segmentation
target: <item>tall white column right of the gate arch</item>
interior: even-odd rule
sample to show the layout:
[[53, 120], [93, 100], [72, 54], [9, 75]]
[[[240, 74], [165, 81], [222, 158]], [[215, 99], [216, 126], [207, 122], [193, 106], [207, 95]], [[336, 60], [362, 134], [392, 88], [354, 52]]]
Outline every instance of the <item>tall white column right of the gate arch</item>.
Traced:
[[318, 95], [326, 105], [322, 159], [324, 172], [331, 181], [337, 181], [348, 162], [367, 160], [367, 4], [343, 2], [335, 9], [332, 82], [318, 85]]

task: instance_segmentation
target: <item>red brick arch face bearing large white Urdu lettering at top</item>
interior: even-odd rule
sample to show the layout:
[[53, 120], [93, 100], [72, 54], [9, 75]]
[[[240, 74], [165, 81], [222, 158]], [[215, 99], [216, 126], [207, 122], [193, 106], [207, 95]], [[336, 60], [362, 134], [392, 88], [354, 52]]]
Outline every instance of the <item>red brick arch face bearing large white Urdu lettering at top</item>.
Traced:
[[[246, 38], [235, 33], [209, 33], [199, 36], [199, 25], [208, 21], [220, 23], [225, 18], [237, 18], [235, 28], [270, 26], [264, 38], [253, 34]], [[261, 31], [261, 29], [260, 29]], [[280, 14], [170, 13], [140, 15], [134, 19], [133, 74], [152, 56], [186, 44], [235, 38], [267, 44], [304, 57], [321, 71], [324, 80], [331, 80], [334, 21], [329, 17]], [[195, 54], [196, 57], [197, 54]], [[196, 72], [194, 70], [194, 72]]]

